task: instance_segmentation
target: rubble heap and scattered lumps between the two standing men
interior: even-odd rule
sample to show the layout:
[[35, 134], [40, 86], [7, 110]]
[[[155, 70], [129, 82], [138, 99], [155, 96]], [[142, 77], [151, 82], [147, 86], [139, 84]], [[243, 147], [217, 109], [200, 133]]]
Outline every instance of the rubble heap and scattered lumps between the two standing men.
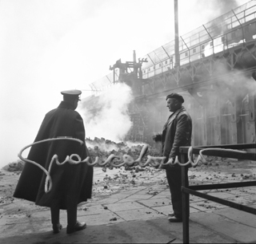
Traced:
[[[98, 156], [100, 163], [105, 162], [111, 154], [118, 155], [120, 158], [122, 158], [122, 155], [127, 154], [134, 160], [138, 159], [143, 145], [132, 142], [115, 143], [114, 141], [105, 140], [104, 138], [99, 139], [97, 137], [94, 140], [86, 139], [86, 146], [89, 150], [90, 157], [94, 162], [95, 157]], [[143, 158], [145, 162], [147, 155], [160, 156], [160, 153], [158, 149], [149, 147], [148, 152], [146, 152]], [[97, 165], [96, 167], [102, 166]], [[107, 171], [106, 167], [108, 169]], [[106, 172], [106, 175], [102, 179], [94, 182], [94, 199], [101, 199], [105, 195], [112, 195], [117, 191], [125, 191], [130, 189], [130, 187], [150, 186], [155, 183], [167, 186], [167, 180], [161, 175], [162, 170], [150, 166], [142, 168], [135, 163], [133, 167], [125, 165], [113, 168], [112, 166], [106, 165], [102, 167], [102, 171]]]

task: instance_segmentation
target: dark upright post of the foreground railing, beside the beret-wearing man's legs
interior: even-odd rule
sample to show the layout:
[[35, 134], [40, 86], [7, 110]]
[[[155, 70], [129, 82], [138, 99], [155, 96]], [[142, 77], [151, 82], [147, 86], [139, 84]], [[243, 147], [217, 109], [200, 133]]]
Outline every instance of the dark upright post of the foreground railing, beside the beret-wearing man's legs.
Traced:
[[[185, 162], [185, 154], [181, 155], [182, 163]], [[182, 187], [188, 187], [186, 180], [186, 166], [182, 166]], [[182, 191], [182, 226], [183, 226], [183, 243], [190, 242], [190, 195]]]

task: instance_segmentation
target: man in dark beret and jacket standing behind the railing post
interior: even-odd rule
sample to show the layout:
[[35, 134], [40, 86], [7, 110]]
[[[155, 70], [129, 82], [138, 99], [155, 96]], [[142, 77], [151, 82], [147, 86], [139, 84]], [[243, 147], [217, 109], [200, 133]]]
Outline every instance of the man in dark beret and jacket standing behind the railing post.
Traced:
[[[179, 147], [191, 145], [192, 120], [186, 109], [182, 106], [184, 99], [178, 93], [171, 93], [166, 96], [167, 108], [172, 114], [169, 116], [163, 127], [162, 134], [153, 136], [156, 142], [162, 142], [162, 155], [166, 156], [165, 163], [172, 158], [173, 162], [178, 156], [179, 162], [181, 157]], [[182, 222], [182, 168], [183, 166], [175, 163], [166, 165], [166, 178], [170, 187], [171, 202], [173, 212], [168, 214], [169, 222]], [[186, 167], [186, 180], [187, 177]]]

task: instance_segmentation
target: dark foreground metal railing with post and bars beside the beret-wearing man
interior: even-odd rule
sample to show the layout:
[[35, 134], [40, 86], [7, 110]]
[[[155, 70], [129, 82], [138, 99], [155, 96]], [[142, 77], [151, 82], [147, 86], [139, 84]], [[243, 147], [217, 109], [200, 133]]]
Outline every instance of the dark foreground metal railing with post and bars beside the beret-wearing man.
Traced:
[[[232, 152], [222, 149], [234, 149], [234, 150], [246, 150], [250, 148], [256, 148], [256, 144], [230, 144], [230, 145], [218, 145], [211, 147], [197, 147], [193, 148], [193, 154], [199, 155], [200, 151], [208, 148], [209, 150], [204, 152], [204, 155], [225, 157], [225, 158], [233, 158], [233, 159], [246, 159], [246, 160], [256, 160], [255, 152]], [[213, 148], [214, 150], [210, 150]], [[216, 150], [220, 148], [219, 150]], [[186, 155], [189, 152], [190, 147], [181, 147], [180, 152], [182, 153], [182, 163], [186, 163]], [[234, 187], [251, 187], [256, 186], [256, 181], [247, 181], [247, 182], [237, 182], [237, 183], [216, 183], [216, 184], [206, 184], [206, 185], [196, 185], [190, 186], [186, 181], [186, 170], [185, 167], [182, 167], [182, 222], [183, 222], [183, 243], [190, 242], [190, 230], [189, 230], [189, 215], [190, 215], [190, 195], [196, 195], [199, 198], [207, 199], [213, 201], [215, 203], [220, 203], [222, 205], [226, 205], [228, 207], [233, 207], [240, 211], [245, 211], [250, 214], [256, 214], [256, 209], [253, 207], [248, 207], [239, 203], [234, 203], [225, 199], [220, 199], [218, 197], [214, 197], [211, 195], [206, 195], [202, 192], [202, 190], [212, 190], [212, 189], [226, 189], [226, 188], [234, 188]]]

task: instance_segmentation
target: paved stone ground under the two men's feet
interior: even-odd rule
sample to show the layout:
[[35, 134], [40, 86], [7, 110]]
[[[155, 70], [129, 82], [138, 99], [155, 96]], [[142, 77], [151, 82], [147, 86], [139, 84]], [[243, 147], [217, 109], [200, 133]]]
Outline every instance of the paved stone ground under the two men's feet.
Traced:
[[[117, 171], [104, 173], [94, 168], [94, 182], [106, 174], [113, 177]], [[152, 177], [164, 179], [165, 172], [155, 171]], [[0, 218], [0, 243], [182, 243], [182, 222], [167, 221], [172, 210], [169, 188], [166, 183], [150, 185], [148, 178], [144, 184], [113, 194], [106, 188], [106, 195], [80, 204], [78, 220], [86, 222], [87, 228], [74, 234], [66, 234], [66, 211], [61, 211], [63, 229], [53, 234], [48, 208], [14, 199], [0, 206], [0, 211], [8, 213]], [[256, 187], [211, 190], [207, 194], [256, 208]], [[255, 242], [254, 214], [190, 196], [190, 243]]]

